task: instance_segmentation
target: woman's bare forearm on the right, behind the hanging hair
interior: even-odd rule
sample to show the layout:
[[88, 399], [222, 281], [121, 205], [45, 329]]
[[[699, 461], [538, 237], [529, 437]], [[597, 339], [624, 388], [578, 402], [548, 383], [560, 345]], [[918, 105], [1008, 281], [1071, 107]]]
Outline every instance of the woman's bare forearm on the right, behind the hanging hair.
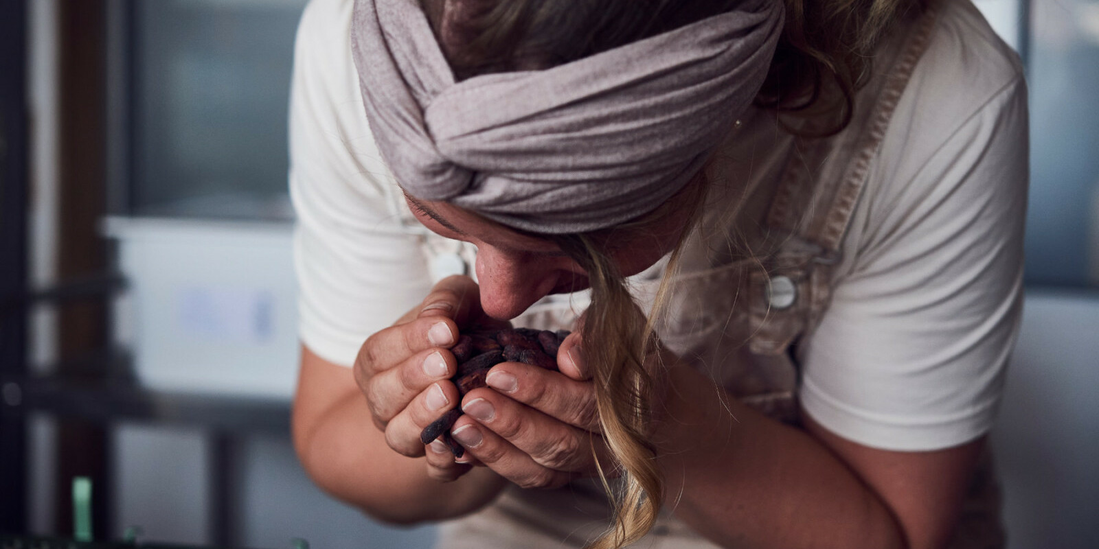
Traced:
[[671, 373], [657, 440], [668, 504], [725, 547], [904, 547], [880, 498], [808, 433], [690, 368]]

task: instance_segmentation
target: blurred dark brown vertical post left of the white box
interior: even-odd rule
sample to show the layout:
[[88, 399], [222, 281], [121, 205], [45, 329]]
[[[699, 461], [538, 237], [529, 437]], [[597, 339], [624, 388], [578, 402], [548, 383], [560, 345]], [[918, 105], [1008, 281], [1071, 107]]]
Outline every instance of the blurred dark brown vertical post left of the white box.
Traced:
[[[59, 157], [58, 258], [62, 282], [100, 274], [108, 267], [99, 221], [107, 205], [107, 5], [103, 0], [59, 2]], [[109, 344], [107, 300], [65, 304], [58, 315], [57, 376], [102, 379], [107, 365], [81, 360]], [[91, 365], [91, 366], [89, 366]], [[111, 536], [109, 428], [59, 418], [55, 530], [73, 535], [71, 481], [89, 477], [92, 531]]]

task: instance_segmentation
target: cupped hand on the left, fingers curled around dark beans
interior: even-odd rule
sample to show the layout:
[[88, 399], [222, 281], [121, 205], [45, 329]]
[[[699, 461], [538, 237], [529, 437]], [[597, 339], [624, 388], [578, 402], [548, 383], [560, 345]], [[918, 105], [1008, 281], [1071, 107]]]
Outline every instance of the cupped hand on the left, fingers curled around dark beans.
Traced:
[[449, 277], [396, 324], [370, 336], [355, 360], [355, 381], [386, 442], [404, 456], [426, 455], [429, 474], [444, 481], [457, 479], [476, 463], [425, 452], [420, 433], [458, 405], [458, 390], [449, 381], [456, 360], [448, 349], [457, 341], [459, 327], [471, 325], [500, 323], [481, 312], [476, 282]]

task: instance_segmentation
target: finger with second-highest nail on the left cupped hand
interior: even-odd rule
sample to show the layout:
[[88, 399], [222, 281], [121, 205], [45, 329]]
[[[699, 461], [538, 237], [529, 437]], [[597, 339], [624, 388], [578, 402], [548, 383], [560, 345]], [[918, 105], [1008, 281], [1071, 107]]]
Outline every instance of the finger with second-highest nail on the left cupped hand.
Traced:
[[429, 348], [393, 368], [375, 373], [362, 390], [370, 405], [370, 412], [386, 423], [404, 410], [428, 385], [449, 379], [456, 369], [457, 360], [448, 350]]

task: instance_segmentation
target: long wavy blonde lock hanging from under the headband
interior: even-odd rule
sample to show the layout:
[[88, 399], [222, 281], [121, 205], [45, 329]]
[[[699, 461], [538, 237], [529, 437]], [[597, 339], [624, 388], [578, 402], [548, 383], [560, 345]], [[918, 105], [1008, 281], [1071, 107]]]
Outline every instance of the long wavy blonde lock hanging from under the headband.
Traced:
[[[653, 404], [665, 373], [657, 354], [655, 323], [667, 303], [684, 243], [701, 216], [706, 190], [706, 175], [700, 171], [668, 202], [634, 222], [593, 234], [544, 236], [588, 273], [591, 304], [581, 327], [584, 355], [595, 382], [600, 430], [622, 478], [622, 489], [615, 492], [600, 464], [599, 478], [611, 498], [613, 522], [588, 546], [591, 549], [617, 549], [641, 539], [652, 529], [664, 502], [664, 477], [651, 442]], [[637, 310], [625, 279], [602, 243], [621, 238], [622, 233], [625, 238], [643, 237], [667, 215], [679, 217], [682, 229], [653, 310], [646, 316]]]

